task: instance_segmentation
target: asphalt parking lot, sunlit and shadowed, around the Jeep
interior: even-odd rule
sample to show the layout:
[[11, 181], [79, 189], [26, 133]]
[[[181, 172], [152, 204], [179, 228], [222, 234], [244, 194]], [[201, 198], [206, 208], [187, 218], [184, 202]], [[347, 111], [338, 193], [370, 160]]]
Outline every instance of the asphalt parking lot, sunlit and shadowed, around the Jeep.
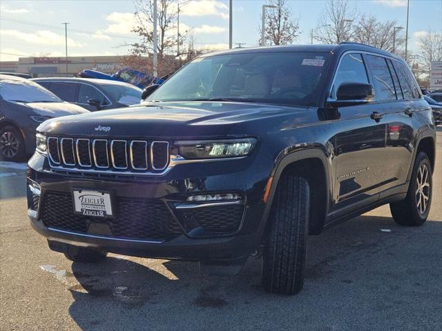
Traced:
[[442, 128], [421, 228], [387, 206], [309, 238], [305, 288], [260, 288], [260, 260], [236, 277], [197, 263], [111, 254], [98, 265], [51, 252], [26, 216], [25, 169], [0, 163], [1, 330], [442, 330]]

